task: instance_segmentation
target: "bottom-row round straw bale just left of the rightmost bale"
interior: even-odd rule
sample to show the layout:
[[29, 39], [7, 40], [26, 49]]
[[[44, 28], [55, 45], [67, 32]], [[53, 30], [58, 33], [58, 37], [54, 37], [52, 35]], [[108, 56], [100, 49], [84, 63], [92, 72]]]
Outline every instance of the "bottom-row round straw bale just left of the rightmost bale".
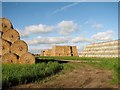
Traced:
[[3, 55], [2, 63], [18, 63], [18, 57], [13, 53], [6, 53]]

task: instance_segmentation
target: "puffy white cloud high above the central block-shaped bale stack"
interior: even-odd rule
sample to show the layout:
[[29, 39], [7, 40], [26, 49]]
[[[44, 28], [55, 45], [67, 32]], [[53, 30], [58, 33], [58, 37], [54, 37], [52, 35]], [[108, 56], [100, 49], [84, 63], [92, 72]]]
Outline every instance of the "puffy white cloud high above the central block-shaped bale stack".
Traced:
[[62, 21], [58, 23], [57, 27], [59, 28], [59, 34], [67, 35], [74, 32], [78, 27], [77, 24], [73, 21]]

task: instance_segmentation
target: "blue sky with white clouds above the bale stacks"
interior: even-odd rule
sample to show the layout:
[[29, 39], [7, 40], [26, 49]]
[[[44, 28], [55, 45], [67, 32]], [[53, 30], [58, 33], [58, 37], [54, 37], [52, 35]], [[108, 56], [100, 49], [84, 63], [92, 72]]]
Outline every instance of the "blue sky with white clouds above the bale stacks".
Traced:
[[77, 46], [118, 39], [117, 2], [3, 2], [2, 17], [40, 53], [54, 45]]

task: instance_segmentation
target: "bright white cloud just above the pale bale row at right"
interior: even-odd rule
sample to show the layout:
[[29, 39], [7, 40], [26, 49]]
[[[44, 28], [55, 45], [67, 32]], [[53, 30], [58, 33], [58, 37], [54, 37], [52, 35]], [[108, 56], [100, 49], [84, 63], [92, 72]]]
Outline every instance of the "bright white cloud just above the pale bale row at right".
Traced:
[[106, 41], [106, 40], [112, 40], [113, 31], [108, 30], [106, 32], [98, 32], [91, 36], [94, 40], [100, 40], [100, 41]]

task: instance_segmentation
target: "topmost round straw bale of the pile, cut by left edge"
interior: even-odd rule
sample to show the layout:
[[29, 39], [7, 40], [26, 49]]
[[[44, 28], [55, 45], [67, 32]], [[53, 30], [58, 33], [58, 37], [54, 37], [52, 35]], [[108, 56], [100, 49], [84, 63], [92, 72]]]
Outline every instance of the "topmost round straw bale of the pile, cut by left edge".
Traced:
[[9, 19], [7, 18], [0, 18], [0, 30], [2, 30], [2, 28], [9, 30], [9, 29], [13, 29], [12, 23], [10, 22]]

